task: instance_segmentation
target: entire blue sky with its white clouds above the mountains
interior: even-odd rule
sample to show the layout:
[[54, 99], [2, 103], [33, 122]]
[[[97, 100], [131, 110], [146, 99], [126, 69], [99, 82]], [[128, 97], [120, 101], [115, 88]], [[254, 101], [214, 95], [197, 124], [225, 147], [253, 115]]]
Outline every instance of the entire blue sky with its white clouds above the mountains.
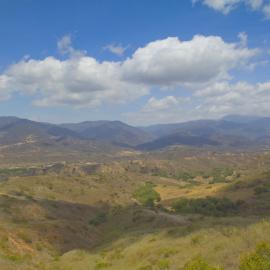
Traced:
[[270, 0], [0, 0], [0, 115], [270, 116]]

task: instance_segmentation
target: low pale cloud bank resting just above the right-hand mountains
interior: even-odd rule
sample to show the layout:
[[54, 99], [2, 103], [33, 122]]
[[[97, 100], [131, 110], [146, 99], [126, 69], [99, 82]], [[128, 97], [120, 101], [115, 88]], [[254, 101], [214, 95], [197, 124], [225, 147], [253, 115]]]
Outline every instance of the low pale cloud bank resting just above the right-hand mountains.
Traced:
[[216, 82], [189, 98], [150, 98], [140, 111], [126, 115], [131, 123], [174, 123], [228, 114], [270, 115], [270, 82]]

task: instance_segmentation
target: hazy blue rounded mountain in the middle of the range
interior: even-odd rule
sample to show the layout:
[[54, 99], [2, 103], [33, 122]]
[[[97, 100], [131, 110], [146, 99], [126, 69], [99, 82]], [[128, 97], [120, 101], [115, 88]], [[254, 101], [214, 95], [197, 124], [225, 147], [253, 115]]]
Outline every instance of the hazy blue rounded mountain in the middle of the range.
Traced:
[[61, 127], [77, 132], [85, 139], [104, 140], [120, 146], [135, 146], [155, 138], [141, 128], [120, 121], [88, 121], [78, 124], [62, 124]]

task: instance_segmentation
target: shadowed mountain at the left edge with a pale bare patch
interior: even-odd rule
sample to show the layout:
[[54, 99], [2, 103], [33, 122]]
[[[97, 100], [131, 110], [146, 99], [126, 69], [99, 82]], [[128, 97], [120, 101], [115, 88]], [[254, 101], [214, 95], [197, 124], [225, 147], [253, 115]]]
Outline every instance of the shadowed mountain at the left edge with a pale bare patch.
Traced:
[[0, 163], [104, 160], [121, 151], [108, 142], [49, 123], [0, 117]]

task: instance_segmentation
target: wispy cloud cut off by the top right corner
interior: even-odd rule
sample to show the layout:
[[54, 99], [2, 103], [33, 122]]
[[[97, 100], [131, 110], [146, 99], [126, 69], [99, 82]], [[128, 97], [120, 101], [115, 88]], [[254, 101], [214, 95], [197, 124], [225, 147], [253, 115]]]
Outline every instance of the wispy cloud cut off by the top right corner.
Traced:
[[220, 11], [223, 14], [228, 14], [239, 5], [244, 4], [251, 10], [260, 10], [267, 16], [268, 4], [265, 0], [192, 0], [193, 4], [202, 2], [204, 5]]

